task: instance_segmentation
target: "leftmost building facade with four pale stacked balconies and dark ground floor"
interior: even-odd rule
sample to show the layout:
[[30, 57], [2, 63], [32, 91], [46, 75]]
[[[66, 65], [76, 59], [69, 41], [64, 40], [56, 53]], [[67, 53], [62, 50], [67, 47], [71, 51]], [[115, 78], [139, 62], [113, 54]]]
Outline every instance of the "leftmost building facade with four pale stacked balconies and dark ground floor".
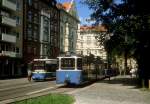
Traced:
[[0, 0], [0, 77], [22, 75], [23, 1]]

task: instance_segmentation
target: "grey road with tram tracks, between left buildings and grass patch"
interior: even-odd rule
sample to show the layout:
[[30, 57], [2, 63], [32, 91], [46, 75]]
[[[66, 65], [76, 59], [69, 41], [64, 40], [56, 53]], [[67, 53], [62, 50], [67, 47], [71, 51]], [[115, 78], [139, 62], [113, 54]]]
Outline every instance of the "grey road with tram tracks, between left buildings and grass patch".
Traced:
[[27, 78], [0, 80], [0, 104], [12, 103], [49, 93], [68, 93], [76, 87], [56, 84], [55, 80], [31, 81]]

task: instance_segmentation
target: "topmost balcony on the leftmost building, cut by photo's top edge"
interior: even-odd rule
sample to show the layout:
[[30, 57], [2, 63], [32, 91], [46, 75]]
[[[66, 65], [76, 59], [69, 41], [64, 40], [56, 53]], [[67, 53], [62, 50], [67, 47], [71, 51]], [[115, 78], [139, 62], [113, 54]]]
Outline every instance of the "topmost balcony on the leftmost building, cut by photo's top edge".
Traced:
[[14, 11], [16, 11], [17, 8], [16, 4], [11, 2], [10, 0], [2, 0], [2, 6]]

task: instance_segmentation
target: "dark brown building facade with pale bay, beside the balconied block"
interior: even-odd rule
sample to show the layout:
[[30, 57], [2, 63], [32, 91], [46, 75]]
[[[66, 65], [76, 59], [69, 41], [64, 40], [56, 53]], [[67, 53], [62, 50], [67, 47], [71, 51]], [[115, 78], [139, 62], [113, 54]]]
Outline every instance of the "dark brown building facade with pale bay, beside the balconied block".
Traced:
[[56, 58], [59, 53], [59, 10], [55, 0], [24, 0], [24, 63]]

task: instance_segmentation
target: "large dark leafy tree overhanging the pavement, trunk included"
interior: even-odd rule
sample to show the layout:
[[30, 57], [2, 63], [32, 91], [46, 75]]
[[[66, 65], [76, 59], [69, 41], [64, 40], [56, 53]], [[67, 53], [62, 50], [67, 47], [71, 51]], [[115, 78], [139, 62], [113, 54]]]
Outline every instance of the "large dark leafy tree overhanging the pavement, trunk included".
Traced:
[[[134, 57], [139, 65], [140, 79], [148, 82], [150, 71], [149, 37], [150, 10], [146, 0], [83, 0], [93, 10], [95, 24], [102, 23], [114, 35], [105, 41], [111, 54]], [[125, 63], [126, 64], [126, 63]]]

